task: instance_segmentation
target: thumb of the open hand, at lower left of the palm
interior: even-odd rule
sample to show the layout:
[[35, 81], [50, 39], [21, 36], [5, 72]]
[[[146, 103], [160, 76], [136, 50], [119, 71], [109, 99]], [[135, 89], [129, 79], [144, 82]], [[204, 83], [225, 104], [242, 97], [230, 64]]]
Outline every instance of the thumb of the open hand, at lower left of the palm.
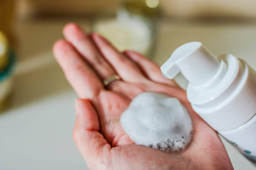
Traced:
[[99, 133], [100, 125], [97, 113], [88, 100], [75, 102], [77, 120], [73, 130], [73, 139], [87, 166], [97, 167], [99, 162], [109, 158], [110, 145]]

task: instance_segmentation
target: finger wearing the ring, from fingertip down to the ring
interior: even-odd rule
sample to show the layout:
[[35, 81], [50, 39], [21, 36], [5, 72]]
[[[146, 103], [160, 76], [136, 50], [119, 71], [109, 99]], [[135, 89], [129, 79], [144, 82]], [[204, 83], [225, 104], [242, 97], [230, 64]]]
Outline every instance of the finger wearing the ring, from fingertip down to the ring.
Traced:
[[74, 23], [67, 24], [63, 29], [63, 34], [97, 72], [101, 80], [115, 74], [115, 70], [100, 55], [89, 36], [78, 25]]

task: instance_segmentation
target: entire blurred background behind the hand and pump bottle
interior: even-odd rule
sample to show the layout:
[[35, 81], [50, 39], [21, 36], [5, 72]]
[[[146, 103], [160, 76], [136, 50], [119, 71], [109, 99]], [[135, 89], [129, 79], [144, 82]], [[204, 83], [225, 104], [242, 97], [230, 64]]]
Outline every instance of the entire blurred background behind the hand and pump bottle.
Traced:
[[[0, 170], [87, 169], [72, 141], [77, 95], [51, 50], [66, 23], [159, 65], [200, 41], [256, 70], [255, 9], [254, 0], [0, 0]], [[235, 170], [255, 169], [223, 143]]]

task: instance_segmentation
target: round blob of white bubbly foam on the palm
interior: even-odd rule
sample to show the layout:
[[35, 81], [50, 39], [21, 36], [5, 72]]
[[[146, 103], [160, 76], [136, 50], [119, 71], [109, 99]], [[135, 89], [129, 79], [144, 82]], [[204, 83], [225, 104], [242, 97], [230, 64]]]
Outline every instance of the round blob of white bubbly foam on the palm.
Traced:
[[161, 150], [185, 149], [192, 138], [192, 121], [178, 99], [156, 92], [136, 96], [120, 117], [131, 140]]

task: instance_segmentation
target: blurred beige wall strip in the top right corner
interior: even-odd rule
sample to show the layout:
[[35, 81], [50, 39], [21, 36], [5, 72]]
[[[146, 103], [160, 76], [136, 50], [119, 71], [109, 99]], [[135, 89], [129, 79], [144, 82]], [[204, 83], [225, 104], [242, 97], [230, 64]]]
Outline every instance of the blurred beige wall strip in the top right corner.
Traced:
[[256, 18], [255, 0], [160, 0], [166, 15]]

